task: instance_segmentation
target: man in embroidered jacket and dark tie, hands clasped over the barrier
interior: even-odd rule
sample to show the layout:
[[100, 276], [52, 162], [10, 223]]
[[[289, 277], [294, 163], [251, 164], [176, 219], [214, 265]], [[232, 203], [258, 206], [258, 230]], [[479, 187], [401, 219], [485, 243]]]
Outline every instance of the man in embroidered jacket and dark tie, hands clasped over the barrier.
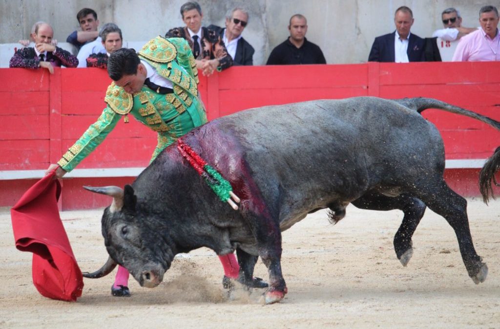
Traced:
[[212, 30], [201, 26], [201, 7], [198, 2], [189, 1], [180, 6], [184, 27], [175, 27], [166, 32], [165, 37], [180, 37], [187, 40], [191, 46], [196, 67], [204, 75], [210, 75], [214, 70], [221, 71], [232, 65], [232, 58], [220, 36]]

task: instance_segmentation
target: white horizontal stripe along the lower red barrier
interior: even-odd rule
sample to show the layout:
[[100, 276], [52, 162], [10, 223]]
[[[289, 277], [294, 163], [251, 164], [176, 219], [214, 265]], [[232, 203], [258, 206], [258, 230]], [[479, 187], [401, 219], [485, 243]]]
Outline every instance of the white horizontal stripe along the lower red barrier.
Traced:
[[[486, 159], [446, 160], [446, 169], [482, 168], [485, 161]], [[145, 167], [74, 169], [64, 175], [64, 178], [136, 177], [144, 169]], [[0, 180], [39, 179], [44, 174], [45, 170], [3, 170], [0, 171]]]

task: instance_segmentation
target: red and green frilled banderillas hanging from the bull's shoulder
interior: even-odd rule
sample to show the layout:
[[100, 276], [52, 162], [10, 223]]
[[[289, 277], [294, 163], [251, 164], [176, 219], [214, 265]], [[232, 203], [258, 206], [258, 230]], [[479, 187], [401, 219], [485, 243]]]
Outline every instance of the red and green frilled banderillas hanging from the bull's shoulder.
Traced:
[[238, 210], [236, 203], [239, 203], [240, 200], [232, 192], [231, 184], [226, 181], [215, 168], [207, 164], [205, 160], [196, 154], [189, 145], [185, 144], [180, 139], [177, 141], [177, 149], [182, 157], [189, 162], [191, 167], [196, 170], [205, 183], [215, 192], [220, 201], [227, 202], [232, 209]]

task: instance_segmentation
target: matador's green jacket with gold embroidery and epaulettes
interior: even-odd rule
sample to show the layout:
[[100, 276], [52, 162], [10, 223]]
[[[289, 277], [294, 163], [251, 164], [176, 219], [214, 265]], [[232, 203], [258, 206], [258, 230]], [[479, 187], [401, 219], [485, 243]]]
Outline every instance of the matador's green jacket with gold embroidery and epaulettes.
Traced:
[[144, 85], [132, 95], [112, 82], [107, 87], [104, 97], [107, 106], [102, 114], [57, 162], [65, 171], [73, 170], [92, 152], [122, 116], [128, 122], [131, 114], [158, 133], [151, 161], [180, 136], [206, 122], [206, 113], [198, 98], [198, 71], [186, 40], [158, 36], [147, 42], [138, 55], [154, 67], [156, 73], [172, 82], [173, 93], [159, 94]]

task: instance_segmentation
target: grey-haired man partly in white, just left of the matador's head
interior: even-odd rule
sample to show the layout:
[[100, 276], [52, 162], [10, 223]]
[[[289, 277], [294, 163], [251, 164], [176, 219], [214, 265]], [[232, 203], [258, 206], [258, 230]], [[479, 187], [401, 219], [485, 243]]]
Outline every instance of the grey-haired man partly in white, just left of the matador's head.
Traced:
[[121, 30], [116, 24], [104, 24], [97, 39], [81, 47], [78, 52], [78, 67], [106, 68], [107, 58], [121, 48], [122, 41]]

